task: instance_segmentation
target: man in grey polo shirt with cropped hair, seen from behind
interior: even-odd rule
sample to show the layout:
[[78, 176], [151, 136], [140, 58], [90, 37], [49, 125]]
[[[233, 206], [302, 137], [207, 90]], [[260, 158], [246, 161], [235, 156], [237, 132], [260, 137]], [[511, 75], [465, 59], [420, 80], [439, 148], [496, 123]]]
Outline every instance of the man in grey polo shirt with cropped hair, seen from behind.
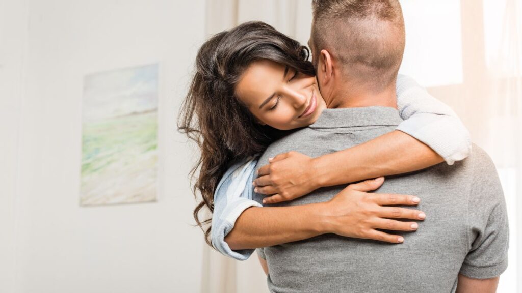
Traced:
[[[338, 151], [390, 132], [401, 121], [395, 84], [405, 36], [398, 1], [315, 0], [313, 9], [310, 47], [331, 109], [309, 128], [270, 145], [258, 166], [290, 150], [310, 156], [327, 153], [317, 147], [319, 132], [323, 141], [327, 136], [330, 151]], [[341, 190], [321, 188], [280, 205], [326, 202]], [[270, 290], [495, 291], [507, 266], [508, 227], [500, 182], [487, 154], [474, 146], [464, 162], [389, 177], [379, 192], [422, 198], [419, 209], [429, 215], [422, 229], [401, 245], [311, 233], [315, 237], [259, 250], [268, 263]], [[260, 202], [262, 197], [255, 194], [254, 199]], [[232, 249], [248, 248], [235, 239], [256, 229], [252, 223], [246, 211], [238, 218], [226, 239]]]

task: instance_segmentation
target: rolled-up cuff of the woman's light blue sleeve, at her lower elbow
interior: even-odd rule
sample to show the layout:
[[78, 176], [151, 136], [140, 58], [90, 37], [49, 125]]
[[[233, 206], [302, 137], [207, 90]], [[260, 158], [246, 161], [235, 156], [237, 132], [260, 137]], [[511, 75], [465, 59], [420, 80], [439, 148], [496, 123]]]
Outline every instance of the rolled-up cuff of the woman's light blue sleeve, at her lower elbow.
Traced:
[[252, 206], [262, 207], [262, 205], [256, 201], [242, 199], [235, 203], [228, 212], [224, 213], [227, 215], [226, 217], [224, 217], [223, 219], [212, 220], [221, 222], [216, 227], [212, 227], [212, 246], [226, 257], [233, 258], [239, 261], [244, 261], [250, 258], [250, 255], [252, 255], [252, 253], [254, 252], [254, 249], [243, 249], [234, 251], [230, 249], [228, 243], [225, 241], [225, 237], [234, 228], [235, 221], [238, 219], [241, 213], [248, 209], [248, 207]]

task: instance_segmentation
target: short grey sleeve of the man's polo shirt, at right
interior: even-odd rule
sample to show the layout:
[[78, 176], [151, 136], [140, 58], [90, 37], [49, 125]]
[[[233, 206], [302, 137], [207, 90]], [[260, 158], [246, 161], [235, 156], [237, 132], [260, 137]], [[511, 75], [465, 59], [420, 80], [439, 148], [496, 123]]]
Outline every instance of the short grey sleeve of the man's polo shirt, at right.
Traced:
[[[473, 155], [476, 155], [474, 153]], [[500, 276], [507, 267], [509, 225], [504, 193], [491, 158], [481, 151], [473, 168], [468, 206], [469, 252], [460, 273], [474, 279]]]

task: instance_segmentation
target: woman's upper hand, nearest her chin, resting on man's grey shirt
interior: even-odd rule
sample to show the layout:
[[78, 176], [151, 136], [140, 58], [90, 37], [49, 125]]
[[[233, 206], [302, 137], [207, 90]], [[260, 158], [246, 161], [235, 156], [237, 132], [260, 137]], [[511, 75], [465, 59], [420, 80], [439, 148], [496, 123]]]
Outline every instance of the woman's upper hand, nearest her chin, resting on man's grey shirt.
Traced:
[[255, 192], [271, 195], [263, 203], [293, 200], [320, 187], [315, 180], [313, 158], [292, 151], [268, 161], [258, 170], [259, 177], [253, 183]]

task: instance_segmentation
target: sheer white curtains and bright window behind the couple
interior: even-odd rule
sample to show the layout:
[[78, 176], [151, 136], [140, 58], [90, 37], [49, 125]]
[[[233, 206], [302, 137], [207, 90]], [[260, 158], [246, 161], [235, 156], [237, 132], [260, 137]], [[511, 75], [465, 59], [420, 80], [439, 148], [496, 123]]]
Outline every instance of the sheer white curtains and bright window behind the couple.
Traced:
[[[310, 0], [207, 0], [207, 33], [262, 20], [306, 44], [310, 4]], [[522, 292], [518, 277], [522, 215], [517, 213], [522, 210], [522, 4], [519, 0], [402, 0], [401, 4], [407, 28], [401, 72], [452, 106], [473, 142], [493, 158], [511, 233], [509, 267], [498, 291]], [[236, 262], [205, 249], [203, 293], [268, 292], [256, 255]]]

